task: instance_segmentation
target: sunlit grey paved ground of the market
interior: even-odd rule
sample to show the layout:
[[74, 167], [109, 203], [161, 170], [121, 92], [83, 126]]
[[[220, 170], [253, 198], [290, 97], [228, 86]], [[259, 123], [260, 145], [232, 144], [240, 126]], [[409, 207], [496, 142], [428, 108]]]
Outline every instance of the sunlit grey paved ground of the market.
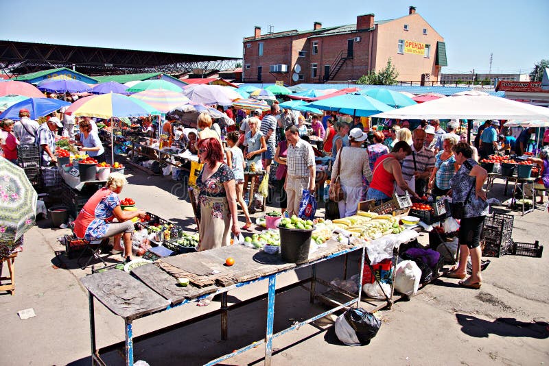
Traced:
[[[161, 217], [192, 227], [190, 204], [183, 186], [168, 178], [128, 171], [131, 183], [123, 197]], [[502, 184], [496, 180], [494, 194]], [[322, 211], [322, 210], [320, 210]], [[322, 212], [319, 212], [322, 213]], [[259, 216], [256, 214], [255, 216]], [[242, 219], [242, 222], [243, 219]], [[515, 241], [548, 243], [548, 213], [536, 210], [515, 217]], [[67, 230], [52, 229], [49, 220], [25, 235], [25, 251], [16, 259], [16, 293], [0, 295], [3, 341], [1, 365], [89, 365], [88, 297], [79, 278], [89, 273], [74, 269], [73, 260], [60, 261], [56, 241]], [[423, 236], [421, 241], [426, 241]], [[356, 268], [357, 257], [351, 258]], [[333, 317], [321, 319], [274, 341], [274, 365], [543, 365], [549, 362], [549, 260], [503, 256], [491, 258], [480, 291], [460, 288], [457, 280], [441, 279], [421, 289], [408, 302], [397, 302], [379, 315], [383, 325], [364, 347], [341, 345], [333, 330]], [[323, 264], [320, 276], [331, 280], [342, 275], [342, 263]], [[279, 283], [290, 283], [306, 273], [287, 273]], [[231, 291], [230, 300], [244, 300], [264, 293], [259, 282]], [[20, 320], [17, 311], [34, 308], [36, 317]], [[219, 302], [200, 308], [188, 304], [134, 323], [136, 335], [191, 319], [219, 308]], [[308, 293], [293, 289], [277, 296], [275, 331], [294, 319], [322, 312], [311, 306]], [[100, 347], [124, 340], [124, 323], [96, 304], [97, 341]], [[136, 344], [136, 360], [150, 365], [200, 365], [237, 347], [264, 337], [266, 302], [239, 308], [229, 315], [229, 340], [220, 341], [220, 319], [213, 317]], [[258, 346], [225, 365], [261, 364], [264, 347]], [[110, 365], [121, 365], [117, 351], [106, 355]]]

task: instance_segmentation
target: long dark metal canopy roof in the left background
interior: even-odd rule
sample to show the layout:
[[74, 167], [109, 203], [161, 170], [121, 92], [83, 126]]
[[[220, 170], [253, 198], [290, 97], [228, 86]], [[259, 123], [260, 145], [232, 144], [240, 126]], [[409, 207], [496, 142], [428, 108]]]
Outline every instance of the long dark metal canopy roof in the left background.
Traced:
[[242, 59], [0, 40], [0, 73], [26, 74], [67, 67], [86, 75], [195, 73], [209, 75], [235, 67]]

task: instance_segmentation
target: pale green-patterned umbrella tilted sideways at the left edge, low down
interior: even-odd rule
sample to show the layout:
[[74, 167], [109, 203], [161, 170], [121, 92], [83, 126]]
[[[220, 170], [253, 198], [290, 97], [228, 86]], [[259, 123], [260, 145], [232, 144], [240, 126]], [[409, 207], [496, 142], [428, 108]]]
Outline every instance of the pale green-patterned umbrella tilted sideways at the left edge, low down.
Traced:
[[0, 256], [34, 226], [36, 199], [25, 171], [0, 157]]

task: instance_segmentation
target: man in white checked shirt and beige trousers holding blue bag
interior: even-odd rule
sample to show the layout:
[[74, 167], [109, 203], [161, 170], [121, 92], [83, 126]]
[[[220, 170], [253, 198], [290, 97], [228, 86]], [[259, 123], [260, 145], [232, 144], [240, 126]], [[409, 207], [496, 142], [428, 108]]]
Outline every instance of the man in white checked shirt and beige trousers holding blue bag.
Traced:
[[297, 215], [299, 202], [303, 195], [303, 189], [314, 192], [314, 178], [316, 167], [314, 163], [314, 151], [307, 141], [299, 138], [299, 130], [296, 125], [291, 125], [285, 130], [288, 140], [288, 175], [284, 183], [284, 190], [288, 196], [288, 214]]

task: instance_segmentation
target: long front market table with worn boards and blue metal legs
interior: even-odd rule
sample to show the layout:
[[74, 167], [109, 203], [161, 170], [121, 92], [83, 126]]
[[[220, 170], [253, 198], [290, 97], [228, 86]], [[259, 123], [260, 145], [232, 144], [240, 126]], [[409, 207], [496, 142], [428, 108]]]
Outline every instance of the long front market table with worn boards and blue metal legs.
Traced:
[[[355, 294], [354, 298], [343, 304], [339, 304], [335, 308], [331, 308], [330, 310], [305, 321], [296, 322], [285, 330], [274, 333], [274, 299], [277, 292], [309, 283], [309, 289], [307, 290], [310, 293], [310, 302], [314, 302], [316, 296], [315, 284], [317, 282], [316, 265], [331, 258], [346, 256], [351, 252], [360, 252], [361, 254], [359, 283], [362, 283], [362, 271], [366, 248], [363, 244], [364, 242], [360, 243], [358, 241], [353, 241], [353, 244], [343, 244], [329, 240], [327, 241], [327, 247], [319, 248], [312, 254], [312, 258], [309, 258], [309, 261], [302, 265], [285, 263], [277, 255], [266, 254], [242, 245], [231, 245], [228, 247], [207, 250], [205, 252], [180, 254], [178, 256], [162, 258], [155, 263], [135, 268], [133, 270], [134, 276], [117, 269], [86, 276], [85, 278], [82, 278], [81, 282], [89, 291], [92, 363], [94, 365], [106, 365], [104, 361], [102, 361], [100, 350], [97, 349], [95, 341], [94, 299], [106, 306], [112, 313], [124, 319], [126, 330], [125, 356], [126, 365], [129, 366], [134, 363], [132, 322], [135, 319], [148, 317], [155, 313], [161, 313], [189, 302], [198, 302], [209, 295], [220, 294], [221, 309], [218, 312], [214, 311], [213, 315], [220, 313], [221, 338], [227, 339], [229, 310], [240, 305], [228, 305], [228, 292], [241, 286], [253, 284], [261, 280], [268, 280], [268, 310], [265, 338], [241, 347], [231, 354], [220, 356], [207, 363], [207, 365], [220, 363], [237, 354], [242, 354], [253, 347], [257, 347], [261, 343], [265, 343], [264, 363], [265, 365], [270, 365], [272, 340], [274, 338], [291, 330], [296, 330], [305, 324], [325, 317], [342, 308], [347, 308], [353, 304], [359, 304], [361, 291], [359, 288], [359, 295]], [[232, 267], [223, 265], [225, 258], [228, 256], [235, 258], [235, 265]], [[279, 275], [304, 267], [309, 267], [311, 269], [311, 276], [309, 278], [300, 280], [299, 282], [290, 284], [284, 288], [276, 289], [277, 277]], [[215, 271], [219, 272], [213, 274]], [[180, 277], [190, 278], [192, 286], [177, 286], [176, 278]], [[337, 289], [330, 284], [328, 284], [328, 286]], [[256, 297], [253, 300], [257, 300], [259, 297]]]

